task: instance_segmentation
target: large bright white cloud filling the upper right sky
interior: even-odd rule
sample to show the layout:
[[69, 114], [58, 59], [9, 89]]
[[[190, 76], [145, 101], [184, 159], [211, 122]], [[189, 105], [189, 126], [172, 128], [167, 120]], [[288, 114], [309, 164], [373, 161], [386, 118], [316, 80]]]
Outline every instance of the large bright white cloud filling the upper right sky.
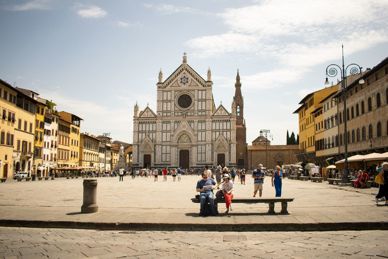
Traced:
[[[196, 58], [244, 58], [268, 65], [245, 76], [245, 87], [266, 89], [298, 82], [313, 66], [388, 42], [388, 1], [258, 0], [217, 16], [229, 31], [192, 38]], [[247, 55], [250, 54], [250, 55]], [[281, 76], [280, 76], [281, 75]]]

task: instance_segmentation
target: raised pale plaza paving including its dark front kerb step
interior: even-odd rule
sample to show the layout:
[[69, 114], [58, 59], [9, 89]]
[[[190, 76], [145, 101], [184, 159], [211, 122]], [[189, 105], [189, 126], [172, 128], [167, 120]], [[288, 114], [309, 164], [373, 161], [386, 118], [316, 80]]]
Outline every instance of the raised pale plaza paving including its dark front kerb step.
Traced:
[[[0, 184], [0, 226], [41, 228], [86, 228], [111, 230], [183, 230], [183, 231], [318, 231], [387, 230], [388, 206], [376, 204], [378, 189], [338, 187], [327, 182], [283, 180], [282, 197], [295, 198], [288, 203], [287, 214], [268, 214], [268, 205], [236, 203], [223, 214], [219, 204], [217, 217], [199, 217], [199, 204], [192, 203], [199, 176], [182, 176], [182, 181], [167, 182], [159, 177], [98, 178], [98, 213], [81, 214], [83, 180], [57, 178], [54, 181]], [[235, 183], [235, 197], [252, 197], [253, 179], [246, 185]], [[263, 197], [273, 197], [271, 180], [264, 181]]]

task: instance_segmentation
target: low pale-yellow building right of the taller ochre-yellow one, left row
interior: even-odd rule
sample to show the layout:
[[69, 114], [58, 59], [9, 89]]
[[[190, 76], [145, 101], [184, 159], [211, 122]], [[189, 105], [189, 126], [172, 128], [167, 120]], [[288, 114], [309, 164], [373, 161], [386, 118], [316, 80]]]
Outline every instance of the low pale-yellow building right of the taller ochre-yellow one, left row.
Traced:
[[100, 141], [89, 133], [80, 134], [79, 165], [90, 166], [93, 170], [99, 169], [99, 144]]

